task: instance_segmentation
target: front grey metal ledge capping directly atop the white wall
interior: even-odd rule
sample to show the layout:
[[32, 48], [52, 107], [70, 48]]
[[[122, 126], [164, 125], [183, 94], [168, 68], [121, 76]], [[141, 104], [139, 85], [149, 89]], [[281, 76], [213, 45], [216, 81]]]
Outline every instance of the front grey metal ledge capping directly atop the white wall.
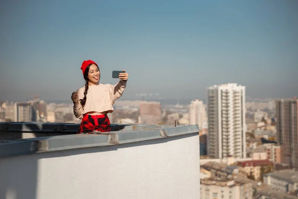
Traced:
[[0, 158], [26, 154], [140, 142], [185, 134], [199, 134], [198, 125], [127, 125], [121, 131], [36, 137], [0, 142]]

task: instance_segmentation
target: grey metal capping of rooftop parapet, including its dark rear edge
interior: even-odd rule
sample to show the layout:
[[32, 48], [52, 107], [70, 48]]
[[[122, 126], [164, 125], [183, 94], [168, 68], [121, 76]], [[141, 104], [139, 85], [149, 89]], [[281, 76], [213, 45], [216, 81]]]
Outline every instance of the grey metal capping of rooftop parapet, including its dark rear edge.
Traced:
[[[3, 139], [0, 141], [0, 158], [76, 148], [118, 145], [199, 133], [198, 125], [118, 125], [112, 131], [96, 134], [75, 134], [79, 124], [1, 122], [0, 133], [31, 133], [32, 138]], [[57, 135], [59, 132], [61, 135]], [[47, 136], [40, 137], [47, 133]], [[8, 136], [7, 136], [8, 134]]]

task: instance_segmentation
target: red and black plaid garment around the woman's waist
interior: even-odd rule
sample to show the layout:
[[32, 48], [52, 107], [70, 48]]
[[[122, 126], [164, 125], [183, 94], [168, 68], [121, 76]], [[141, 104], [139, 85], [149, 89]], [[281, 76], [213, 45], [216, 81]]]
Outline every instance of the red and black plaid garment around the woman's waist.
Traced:
[[85, 114], [76, 134], [92, 133], [93, 131], [111, 131], [111, 123], [108, 115], [88, 115]]

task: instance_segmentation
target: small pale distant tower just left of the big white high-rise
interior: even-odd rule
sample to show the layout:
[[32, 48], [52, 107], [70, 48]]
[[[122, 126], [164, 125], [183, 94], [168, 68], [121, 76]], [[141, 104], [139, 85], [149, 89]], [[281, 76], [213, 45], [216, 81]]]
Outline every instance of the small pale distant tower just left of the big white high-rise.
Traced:
[[204, 128], [206, 122], [206, 109], [202, 100], [192, 100], [189, 105], [189, 124], [198, 124]]

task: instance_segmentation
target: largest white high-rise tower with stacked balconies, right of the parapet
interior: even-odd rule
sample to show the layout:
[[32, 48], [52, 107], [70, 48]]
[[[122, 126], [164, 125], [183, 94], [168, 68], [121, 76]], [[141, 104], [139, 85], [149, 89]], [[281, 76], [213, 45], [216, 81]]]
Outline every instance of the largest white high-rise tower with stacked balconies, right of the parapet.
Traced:
[[208, 144], [212, 158], [246, 158], [245, 87], [215, 85], [207, 89]]

